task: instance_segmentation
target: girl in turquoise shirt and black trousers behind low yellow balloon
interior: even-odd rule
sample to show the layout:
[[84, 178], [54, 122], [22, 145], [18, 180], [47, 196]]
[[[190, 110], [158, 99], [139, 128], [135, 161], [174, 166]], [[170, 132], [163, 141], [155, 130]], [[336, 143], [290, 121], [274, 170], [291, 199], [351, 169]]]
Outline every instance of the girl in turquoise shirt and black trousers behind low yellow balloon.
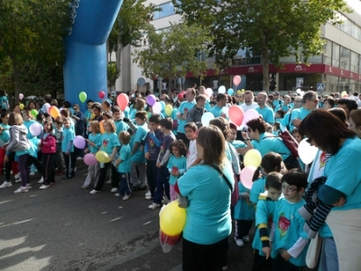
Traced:
[[105, 133], [101, 136], [101, 145], [99, 150], [103, 150], [109, 156], [110, 160], [106, 163], [100, 163], [99, 177], [97, 179], [97, 185], [94, 187], [90, 194], [97, 194], [103, 189], [104, 181], [106, 179], [106, 170], [108, 167], [112, 168], [112, 192], [118, 191], [119, 181], [117, 178], [116, 167], [114, 167], [112, 161], [116, 156], [117, 148], [120, 146], [119, 140], [116, 136], [116, 124], [108, 120], [104, 122]]

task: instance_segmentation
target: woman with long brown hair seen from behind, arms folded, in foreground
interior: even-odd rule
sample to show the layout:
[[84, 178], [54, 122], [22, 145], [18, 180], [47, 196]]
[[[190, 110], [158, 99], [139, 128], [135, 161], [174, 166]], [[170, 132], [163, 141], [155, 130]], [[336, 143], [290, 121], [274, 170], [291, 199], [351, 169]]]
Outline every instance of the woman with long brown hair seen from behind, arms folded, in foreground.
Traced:
[[197, 155], [203, 163], [190, 167], [178, 181], [180, 194], [190, 200], [183, 230], [183, 270], [222, 270], [225, 266], [234, 185], [225, 141], [218, 127], [200, 128]]

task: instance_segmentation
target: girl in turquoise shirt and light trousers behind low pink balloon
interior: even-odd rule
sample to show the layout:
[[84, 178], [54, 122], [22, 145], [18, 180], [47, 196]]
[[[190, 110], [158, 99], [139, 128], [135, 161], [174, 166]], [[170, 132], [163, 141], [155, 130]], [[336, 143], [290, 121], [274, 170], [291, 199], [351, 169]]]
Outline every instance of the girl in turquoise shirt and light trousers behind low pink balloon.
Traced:
[[[97, 121], [90, 122], [90, 126], [88, 131], [90, 132], [88, 142], [88, 152], [92, 154], [96, 154], [97, 150], [100, 148], [101, 144], [101, 133], [100, 133], [100, 125]], [[88, 176], [85, 179], [84, 185], [81, 186], [82, 189], [87, 189], [93, 180], [97, 181], [99, 177], [99, 163], [88, 167]]]

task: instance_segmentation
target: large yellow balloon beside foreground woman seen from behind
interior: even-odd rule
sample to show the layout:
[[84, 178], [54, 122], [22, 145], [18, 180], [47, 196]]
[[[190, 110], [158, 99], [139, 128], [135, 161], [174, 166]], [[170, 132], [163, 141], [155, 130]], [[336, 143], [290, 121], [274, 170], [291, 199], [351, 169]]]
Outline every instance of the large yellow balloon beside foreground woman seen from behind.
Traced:
[[164, 207], [159, 222], [165, 234], [178, 235], [186, 224], [186, 209], [180, 208], [178, 201], [173, 201]]

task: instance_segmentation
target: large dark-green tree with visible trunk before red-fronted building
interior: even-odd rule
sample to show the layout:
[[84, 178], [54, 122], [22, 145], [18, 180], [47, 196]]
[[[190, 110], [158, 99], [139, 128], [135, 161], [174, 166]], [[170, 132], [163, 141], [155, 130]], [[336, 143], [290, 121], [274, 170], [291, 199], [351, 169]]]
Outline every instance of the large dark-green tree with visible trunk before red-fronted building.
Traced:
[[180, 0], [174, 1], [189, 23], [202, 22], [214, 39], [210, 56], [229, 63], [237, 50], [247, 49], [263, 59], [264, 90], [269, 90], [269, 64], [282, 57], [319, 55], [324, 41], [322, 24], [340, 23], [337, 12], [349, 12], [343, 0]]

